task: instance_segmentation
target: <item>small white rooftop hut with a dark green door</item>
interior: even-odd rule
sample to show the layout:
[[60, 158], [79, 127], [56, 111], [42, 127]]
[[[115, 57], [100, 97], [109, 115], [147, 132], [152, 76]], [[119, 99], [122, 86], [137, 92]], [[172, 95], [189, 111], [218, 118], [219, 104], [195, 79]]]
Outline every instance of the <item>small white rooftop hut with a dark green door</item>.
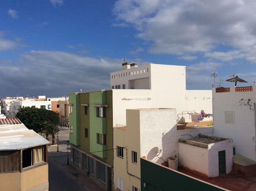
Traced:
[[232, 170], [232, 139], [200, 134], [192, 139], [179, 139], [179, 164], [205, 177], [217, 177]]

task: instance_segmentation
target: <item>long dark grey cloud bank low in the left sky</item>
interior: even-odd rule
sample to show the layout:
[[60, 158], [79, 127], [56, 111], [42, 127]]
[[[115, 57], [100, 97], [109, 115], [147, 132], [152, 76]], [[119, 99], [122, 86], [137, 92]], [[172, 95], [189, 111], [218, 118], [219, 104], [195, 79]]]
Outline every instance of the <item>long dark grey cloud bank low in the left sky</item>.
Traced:
[[[6, 62], [0, 62], [0, 84], [4, 84], [1, 92], [10, 92], [14, 96], [17, 92], [20, 95], [46, 93], [48, 96], [67, 96], [80, 89], [111, 89], [109, 73], [120, 70], [123, 63], [122, 59], [90, 58], [46, 50], [25, 52], [14, 62]], [[136, 62], [140, 66], [148, 64], [140, 59], [128, 62]]]

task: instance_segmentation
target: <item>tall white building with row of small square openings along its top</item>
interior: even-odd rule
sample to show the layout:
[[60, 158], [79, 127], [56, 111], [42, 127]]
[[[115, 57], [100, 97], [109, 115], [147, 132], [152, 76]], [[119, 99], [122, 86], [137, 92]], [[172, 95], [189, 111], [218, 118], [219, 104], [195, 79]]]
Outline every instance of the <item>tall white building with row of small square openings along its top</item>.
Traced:
[[[135, 89], [132, 90], [133, 97], [137, 99], [142, 99], [138, 97], [138, 90], [144, 91], [148, 94], [144, 98], [153, 100], [152, 107], [176, 108], [177, 121], [191, 121], [188, 114], [190, 112], [200, 113], [204, 110], [206, 113], [212, 113], [212, 90], [186, 90], [186, 66], [130, 66], [129, 63], [122, 65], [121, 71], [110, 73], [112, 89]], [[126, 95], [124, 92], [121, 94]], [[127, 96], [124, 98], [134, 99]], [[206, 120], [212, 120], [212, 117]]]

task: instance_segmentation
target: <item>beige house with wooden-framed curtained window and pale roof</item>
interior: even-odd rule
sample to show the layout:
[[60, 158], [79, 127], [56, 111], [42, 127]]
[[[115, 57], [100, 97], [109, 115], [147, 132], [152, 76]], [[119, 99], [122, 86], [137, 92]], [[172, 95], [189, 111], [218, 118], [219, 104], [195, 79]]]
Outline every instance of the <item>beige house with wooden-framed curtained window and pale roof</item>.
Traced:
[[48, 142], [18, 118], [0, 119], [0, 185], [6, 191], [48, 191]]

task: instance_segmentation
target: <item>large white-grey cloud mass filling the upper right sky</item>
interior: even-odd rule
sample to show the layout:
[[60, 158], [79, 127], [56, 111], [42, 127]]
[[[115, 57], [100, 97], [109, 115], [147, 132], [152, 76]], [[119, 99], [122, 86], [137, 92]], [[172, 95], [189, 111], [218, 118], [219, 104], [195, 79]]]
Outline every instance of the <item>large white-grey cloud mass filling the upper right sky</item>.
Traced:
[[118, 0], [117, 22], [134, 26], [154, 54], [210, 52], [256, 44], [255, 0]]

